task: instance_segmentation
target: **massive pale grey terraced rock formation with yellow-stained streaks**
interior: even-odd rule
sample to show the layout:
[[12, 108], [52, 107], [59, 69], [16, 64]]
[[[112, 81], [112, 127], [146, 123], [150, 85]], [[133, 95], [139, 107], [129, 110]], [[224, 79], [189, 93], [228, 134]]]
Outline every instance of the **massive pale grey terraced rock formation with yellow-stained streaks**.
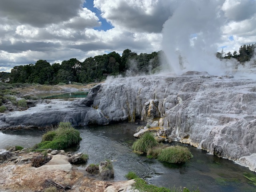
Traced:
[[108, 124], [141, 118], [169, 137], [256, 171], [256, 81], [189, 72], [116, 78], [75, 102], [45, 104], [0, 117], [1, 127]]

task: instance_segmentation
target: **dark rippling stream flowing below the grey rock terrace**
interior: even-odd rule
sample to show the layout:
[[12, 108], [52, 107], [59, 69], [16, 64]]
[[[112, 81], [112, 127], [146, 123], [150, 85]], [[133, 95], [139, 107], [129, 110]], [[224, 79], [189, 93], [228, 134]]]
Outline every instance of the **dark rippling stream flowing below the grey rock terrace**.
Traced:
[[[132, 152], [133, 134], [137, 124], [119, 123], [108, 126], [86, 126], [79, 128], [82, 141], [77, 152], [89, 155], [88, 164], [102, 160], [113, 161], [114, 180], [126, 180], [129, 171], [145, 178], [150, 184], [172, 188], [197, 187], [201, 192], [254, 192], [254, 186], [243, 174], [254, 177], [255, 172], [234, 162], [218, 158], [207, 152], [188, 146], [194, 157], [185, 164], [176, 165], [148, 159]], [[44, 132], [36, 130], [17, 130], [0, 132], [0, 148], [11, 145], [31, 147], [40, 142]], [[173, 143], [180, 144], [180, 143]], [[78, 166], [84, 170], [86, 165]]]

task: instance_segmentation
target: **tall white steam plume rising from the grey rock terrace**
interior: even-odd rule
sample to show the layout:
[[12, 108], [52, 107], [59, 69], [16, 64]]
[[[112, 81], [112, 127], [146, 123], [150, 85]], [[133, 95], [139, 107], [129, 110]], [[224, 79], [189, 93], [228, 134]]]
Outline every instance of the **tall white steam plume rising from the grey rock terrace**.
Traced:
[[188, 70], [221, 75], [222, 62], [216, 58], [218, 42], [225, 24], [224, 0], [181, 0], [164, 23], [162, 48], [171, 70], [182, 74]]

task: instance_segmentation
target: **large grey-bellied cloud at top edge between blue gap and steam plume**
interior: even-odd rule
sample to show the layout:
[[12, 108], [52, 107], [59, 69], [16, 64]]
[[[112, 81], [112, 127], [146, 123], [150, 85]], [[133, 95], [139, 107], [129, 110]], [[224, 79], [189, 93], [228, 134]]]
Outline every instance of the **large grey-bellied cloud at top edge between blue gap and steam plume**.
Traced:
[[161, 32], [171, 14], [166, 0], [94, 0], [94, 6], [113, 26], [135, 32]]

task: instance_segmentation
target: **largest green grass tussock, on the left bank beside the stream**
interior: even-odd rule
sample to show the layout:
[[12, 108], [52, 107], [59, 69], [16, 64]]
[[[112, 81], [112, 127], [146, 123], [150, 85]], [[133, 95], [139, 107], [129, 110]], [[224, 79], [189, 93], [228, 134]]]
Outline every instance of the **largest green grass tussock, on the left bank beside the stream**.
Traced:
[[[45, 136], [46, 135], [46, 136]], [[82, 140], [78, 130], [74, 129], [70, 122], [60, 122], [55, 131], [46, 132], [42, 142], [34, 146], [35, 149], [62, 150], [78, 144]]]

